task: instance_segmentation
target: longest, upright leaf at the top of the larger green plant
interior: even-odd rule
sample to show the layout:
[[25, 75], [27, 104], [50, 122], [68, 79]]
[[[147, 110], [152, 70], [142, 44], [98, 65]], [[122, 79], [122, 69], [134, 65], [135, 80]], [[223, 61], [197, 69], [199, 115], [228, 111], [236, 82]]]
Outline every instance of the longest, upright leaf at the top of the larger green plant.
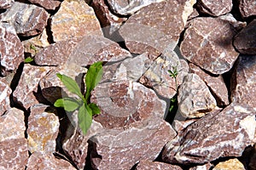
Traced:
[[102, 80], [102, 61], [98, 61], [93, 65], [90, 65], [89, 70], [85, 76], [85, 84], [86, 84], [86, 92], [85, 92], [85, 100], [89, 99], [90, 93], [96, 85]]

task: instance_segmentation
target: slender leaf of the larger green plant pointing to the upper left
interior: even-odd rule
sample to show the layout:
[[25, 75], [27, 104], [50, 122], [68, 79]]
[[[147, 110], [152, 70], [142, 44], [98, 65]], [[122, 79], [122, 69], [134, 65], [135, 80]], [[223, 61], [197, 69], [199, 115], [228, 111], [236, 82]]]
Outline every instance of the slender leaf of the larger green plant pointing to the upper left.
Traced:
[[80, 91], [79, 85], [76, 81], [74, 81], [71, 77], [67, 77], [66, 75], [61, 75], [60, 73], [56, 74], [57, 77], [61, 79], [61, 82], [65, 85], [65, 87], [73, 94], [77, 94], [79, 98], [83, 99], [83, 94]]

